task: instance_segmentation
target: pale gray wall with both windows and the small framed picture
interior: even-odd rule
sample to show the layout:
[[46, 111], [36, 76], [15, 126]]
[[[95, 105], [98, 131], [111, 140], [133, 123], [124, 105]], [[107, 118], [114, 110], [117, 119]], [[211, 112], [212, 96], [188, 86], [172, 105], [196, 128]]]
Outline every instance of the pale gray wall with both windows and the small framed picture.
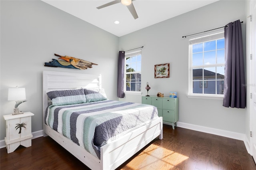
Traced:
[[[245, 1], [218, 1], [197, 10], [120, 37], [120, 49], [142, 49], [142, 95], [158, 92], [179, 97], [179, 122], [244, 134], [247, 109], [222, 106], [222, 100], [191, 99], [188, 94], [188, 38], [182, 36], [225, 26], [240, 19], [245, 38]], [[245, 41], [244, 41], [245, 42]], [[170, 78], [154, 78], [154, 65], [170, 63]], [[141, 102], [140, 95], [126, 95], [121, 101]]]

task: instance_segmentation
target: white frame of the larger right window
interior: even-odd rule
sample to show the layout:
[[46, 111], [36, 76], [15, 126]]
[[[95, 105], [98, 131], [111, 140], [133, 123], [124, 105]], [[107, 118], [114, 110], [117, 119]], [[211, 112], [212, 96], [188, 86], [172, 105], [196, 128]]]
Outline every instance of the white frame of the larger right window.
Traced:
[[[202, 42], [210, 42], [213, 40], [218, 40], [224, 38], [224, 30], [217, 30], [212, 32], [207, 32], [204, 34], [200, 34], [197, 36], [190, 37], [189, 42], [189, 63], [188, 63], [188, 98], [198, 98], [198, 99], [223, 99], [223, 94], [201, 94], [201, 93], [193, 93], [193, 66], [192, 66], [192, 45]], [[205, 67], [202, 65], [201, 67]], [[209, 67], [218, 67], [224, 66], [223, 64], [211, 64]], [[200, 67], [200, 66], [196, 66]]]

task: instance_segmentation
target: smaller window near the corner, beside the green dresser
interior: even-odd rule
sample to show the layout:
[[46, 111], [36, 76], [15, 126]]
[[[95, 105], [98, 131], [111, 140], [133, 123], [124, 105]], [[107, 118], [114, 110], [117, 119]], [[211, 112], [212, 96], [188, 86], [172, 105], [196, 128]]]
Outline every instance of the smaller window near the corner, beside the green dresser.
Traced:
[[141, 49], [125, 52], [124, 93], [141, 91]]

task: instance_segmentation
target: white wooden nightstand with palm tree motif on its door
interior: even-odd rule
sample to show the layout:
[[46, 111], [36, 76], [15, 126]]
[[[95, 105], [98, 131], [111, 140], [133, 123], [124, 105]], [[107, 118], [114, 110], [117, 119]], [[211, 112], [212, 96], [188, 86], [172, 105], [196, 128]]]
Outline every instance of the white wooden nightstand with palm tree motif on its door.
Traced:
[[4, 115], [6, 120], [6, 137], [4, 138], [7, 153], [13, 152], [18, 146], [31, 146], [31, 112], [18, 115]]

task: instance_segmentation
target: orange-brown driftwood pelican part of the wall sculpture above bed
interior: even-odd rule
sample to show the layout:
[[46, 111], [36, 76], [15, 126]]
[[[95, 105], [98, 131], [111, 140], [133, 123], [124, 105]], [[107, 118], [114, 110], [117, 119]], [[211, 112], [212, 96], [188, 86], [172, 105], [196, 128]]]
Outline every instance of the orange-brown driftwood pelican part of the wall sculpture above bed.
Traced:
[[57, 57], [60, 57], [58, 59], [63, 59], [67, 62], [69, 62], [71, 65], [73, 65], [74, 67], [78, 68], [78, 69], [87, 69], [87, 68], [92, 68], [92, 65], [98, 65], [95, 63], [92, 63], [90, 61], [85, 61], [83, 59], [78, 59], [78, 58], [74, 58], [74, 57], [70, 57], [70, 56], [61, 56], [58, 54], [54, 54]]

